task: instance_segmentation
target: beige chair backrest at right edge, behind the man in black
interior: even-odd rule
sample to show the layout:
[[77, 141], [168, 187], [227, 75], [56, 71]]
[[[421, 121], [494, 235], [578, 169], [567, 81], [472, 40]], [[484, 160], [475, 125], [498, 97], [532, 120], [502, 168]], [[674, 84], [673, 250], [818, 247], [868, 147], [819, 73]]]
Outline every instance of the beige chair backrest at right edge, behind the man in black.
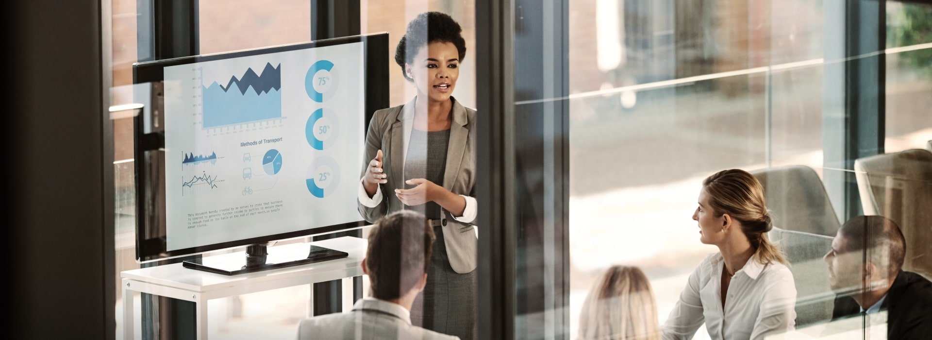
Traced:
[[932, 277], [932, 152], [859, 158], [855, 171], [864, 213], [893, 220], [906, 238], [903, 270]]

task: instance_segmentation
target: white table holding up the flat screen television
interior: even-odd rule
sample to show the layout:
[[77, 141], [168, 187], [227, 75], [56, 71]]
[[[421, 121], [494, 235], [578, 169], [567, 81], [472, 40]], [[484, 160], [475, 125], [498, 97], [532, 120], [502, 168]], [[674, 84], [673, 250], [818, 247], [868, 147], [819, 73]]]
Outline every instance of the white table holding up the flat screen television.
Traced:
[[[263, 270], [235, 276], [213, 274], [189, 269], [182, 264], [158, 265], [127, 270], [123, 278], [123, 338], [133, 338], [133, 300], [136, 293], [145, 292], [179, 300], [194, 301], [197, 309], [198, 339], [207, 338], [207, 301], [230, 296], [265, 292], [308, 283], [363, 275], [361, 263], [367, 241], [363, 238], [332, 238], [310, 243], [293, 243], [268, 248], [267, 262], [295, 259], [307, 254], [309, 245], [348, 252], [349, 257], [308, 265]], [[204, 257], [204, 261], [244, 262], [245, 252], [231, 252]]]

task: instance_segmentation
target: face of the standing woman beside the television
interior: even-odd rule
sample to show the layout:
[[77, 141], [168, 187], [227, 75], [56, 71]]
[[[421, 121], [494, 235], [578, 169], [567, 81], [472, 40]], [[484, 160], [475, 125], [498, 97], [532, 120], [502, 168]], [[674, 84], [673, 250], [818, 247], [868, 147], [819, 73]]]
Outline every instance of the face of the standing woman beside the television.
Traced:
[[459, 50], [453, 43], [432, 42], [421, 48], [404, 72], [414, 79], [418, 98], [445, 102], [453, 95], [459, 78]]

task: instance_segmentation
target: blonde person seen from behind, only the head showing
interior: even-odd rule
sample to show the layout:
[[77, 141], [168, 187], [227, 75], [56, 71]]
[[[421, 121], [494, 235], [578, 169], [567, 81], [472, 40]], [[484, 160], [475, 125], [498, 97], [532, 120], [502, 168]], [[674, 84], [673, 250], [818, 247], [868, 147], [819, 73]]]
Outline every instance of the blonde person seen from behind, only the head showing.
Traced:
[[583, 303], [578, 340], [660, 339], [651, 283], [634, 266], [605, 271]]

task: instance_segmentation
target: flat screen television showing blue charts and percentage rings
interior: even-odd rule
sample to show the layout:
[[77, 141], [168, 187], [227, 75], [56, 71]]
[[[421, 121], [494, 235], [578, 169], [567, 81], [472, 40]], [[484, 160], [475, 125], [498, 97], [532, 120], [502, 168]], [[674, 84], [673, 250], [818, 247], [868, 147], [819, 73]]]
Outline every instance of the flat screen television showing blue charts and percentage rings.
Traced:
[[261, 255], [365, 225], [364, 134], [388, 74], [388, 34], [134, 64], [150, 90], [134, 120], [137, 260]]

